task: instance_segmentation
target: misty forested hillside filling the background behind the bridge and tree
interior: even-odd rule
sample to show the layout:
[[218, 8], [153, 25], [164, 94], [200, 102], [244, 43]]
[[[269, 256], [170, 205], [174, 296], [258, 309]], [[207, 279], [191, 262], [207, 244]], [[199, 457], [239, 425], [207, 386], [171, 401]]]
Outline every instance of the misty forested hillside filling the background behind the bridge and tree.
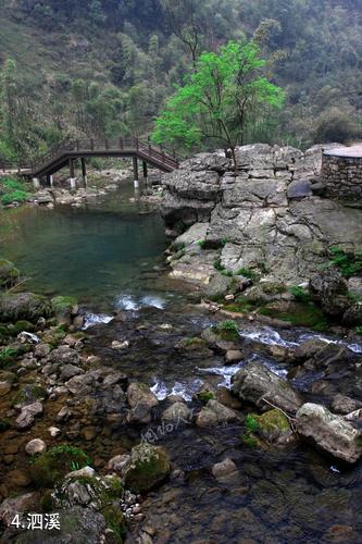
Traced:
[[0, 0], [0, 160], [151, 132], [198, 55], [253, 38], [286, 91], [249, 140], [361, 137], [362, 0]]

